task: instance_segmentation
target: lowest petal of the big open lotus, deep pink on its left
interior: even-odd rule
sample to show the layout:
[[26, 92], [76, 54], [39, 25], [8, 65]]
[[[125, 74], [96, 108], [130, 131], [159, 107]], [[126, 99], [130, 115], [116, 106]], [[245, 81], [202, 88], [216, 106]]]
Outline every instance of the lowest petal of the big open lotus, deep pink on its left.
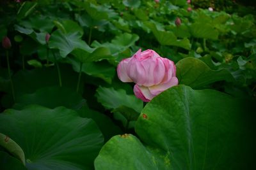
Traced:
[[134, 94], [136, 97], [141, 99], [142, 101], [149, 102], [151, 99], [153, 99], [155, 96], [150, 93], [148, 90], [148, 87], [134, 85], [133, 88]]

